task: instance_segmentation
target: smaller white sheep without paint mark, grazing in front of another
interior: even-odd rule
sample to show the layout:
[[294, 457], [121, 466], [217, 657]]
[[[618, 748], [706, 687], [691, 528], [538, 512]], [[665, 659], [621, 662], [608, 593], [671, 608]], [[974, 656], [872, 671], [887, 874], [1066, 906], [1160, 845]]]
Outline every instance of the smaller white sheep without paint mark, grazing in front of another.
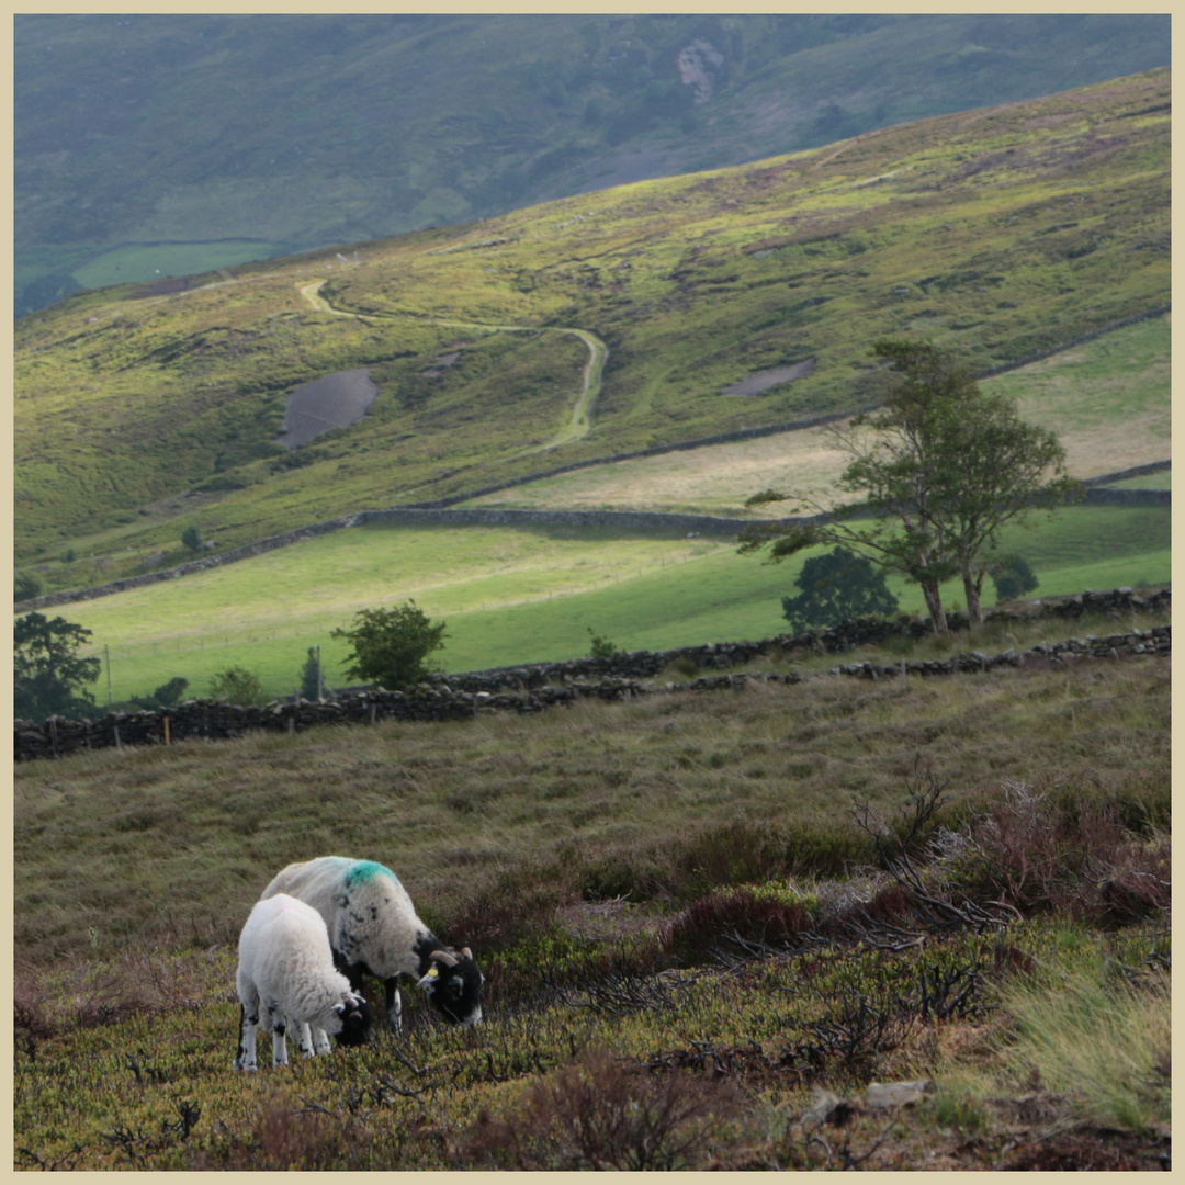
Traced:
[[238, 998], [243, 1005], [236, 1070], [256, 1070], [255, 1035], [263, 1011], [271, 1030], [271, 1064], [288, 1064], [288, 1026], [305, 1057], [329, 1052], [329, 1036], [360, 1045], [373, 1019], [370, 1005], [333, 966], [321, 915], [278, 893], [257, 902], [238, 940]]

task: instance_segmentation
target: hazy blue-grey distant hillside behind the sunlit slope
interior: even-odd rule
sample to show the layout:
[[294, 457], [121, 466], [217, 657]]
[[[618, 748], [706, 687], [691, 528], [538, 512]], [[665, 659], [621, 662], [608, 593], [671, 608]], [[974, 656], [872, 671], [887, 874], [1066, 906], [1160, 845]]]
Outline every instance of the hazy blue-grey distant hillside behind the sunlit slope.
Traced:
[[1168, 64], [1166, 15], [20, 14], [17, 312]]

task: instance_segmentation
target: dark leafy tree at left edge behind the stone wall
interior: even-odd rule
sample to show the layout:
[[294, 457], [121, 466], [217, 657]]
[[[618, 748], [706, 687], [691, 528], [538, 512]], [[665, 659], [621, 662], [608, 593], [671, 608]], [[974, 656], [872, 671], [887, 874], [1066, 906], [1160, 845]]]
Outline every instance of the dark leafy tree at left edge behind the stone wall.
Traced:
[[95, 705], [84, 690], [103, 664], [78, 656], [91, 632], [65, 617], [26, 613], [13, 623], [13, 707], [19, 719], [78, 715]]

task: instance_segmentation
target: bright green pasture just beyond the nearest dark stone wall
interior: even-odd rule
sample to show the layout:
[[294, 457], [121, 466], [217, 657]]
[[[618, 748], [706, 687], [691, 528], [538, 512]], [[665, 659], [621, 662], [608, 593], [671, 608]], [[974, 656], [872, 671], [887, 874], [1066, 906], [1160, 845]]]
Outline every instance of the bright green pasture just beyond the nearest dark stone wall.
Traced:
[[[1071, 507], [1010, 531], [1005, 546], [1040, 577], [1035, 596], [1160, 583], [1171, 578], [1170, 508]], [[175, 675], [205, 694], [229, 666], [280, 697], [314, 645], [329, 681], [346, 681], [348, 648], [329, 634], [361, 608], [414, 598], [448, 623], [444, 670], [473, 671], [587, 654], [589, 629], [622, 649], [771, 638], [786, 628], [781, 598], [796, 594], [801, 563], [742, 557], [726, 539], [369, 526], [57, 611], [92, 630], [88, 653], [109, 659], [115, 702]], [[903, 611], [923, 611], [916, 587], [889, 585]], [[991, 603], [989, 583], [985, 592]], [[944, 596], [961, 604], [961, 585]], [[92, 691], [107, 703], [105, 671]]]

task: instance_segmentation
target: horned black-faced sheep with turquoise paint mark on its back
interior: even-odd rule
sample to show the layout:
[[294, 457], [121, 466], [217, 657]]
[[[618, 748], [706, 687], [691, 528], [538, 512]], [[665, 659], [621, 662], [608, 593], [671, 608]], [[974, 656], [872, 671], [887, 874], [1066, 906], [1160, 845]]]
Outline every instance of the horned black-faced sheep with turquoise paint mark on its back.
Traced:
[[373, 860], [322, 856], [289, 864], [263, 890], [290, 893], [320, 912], [338, 968], [356, 991], [372, 975], [386, 987], [386, 1014], [398, 1032], [399, 976], [410, 975], [437, 1011], [455, 1024], [481, 1020], [482, 975], [468, 947], [450, 952], [417, 917], [399, 878]]

